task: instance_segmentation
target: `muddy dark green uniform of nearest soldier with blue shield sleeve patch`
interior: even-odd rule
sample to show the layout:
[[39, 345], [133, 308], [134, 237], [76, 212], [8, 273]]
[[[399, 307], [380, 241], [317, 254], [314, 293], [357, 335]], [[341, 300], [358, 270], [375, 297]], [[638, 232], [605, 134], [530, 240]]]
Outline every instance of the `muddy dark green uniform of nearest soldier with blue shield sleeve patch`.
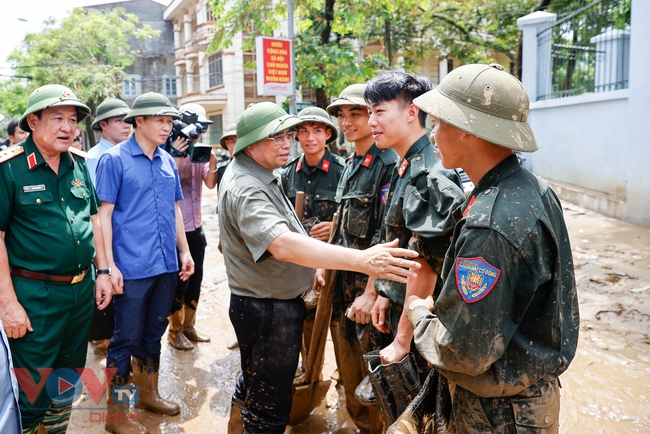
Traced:
[[511, 156], [455, 219], [435, 314], [409, 316], [420, 353], [456, 385], [454, 432], [557, 432], [557, 376], [579, 328], [560, 202]]

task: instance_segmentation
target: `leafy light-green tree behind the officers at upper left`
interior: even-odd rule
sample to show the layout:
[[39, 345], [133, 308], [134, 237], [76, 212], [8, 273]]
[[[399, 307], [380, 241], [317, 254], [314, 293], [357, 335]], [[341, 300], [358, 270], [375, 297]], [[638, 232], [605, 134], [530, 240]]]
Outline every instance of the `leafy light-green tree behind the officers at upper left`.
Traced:
[[[57, 83], [69, 87], [94, 113], [105, 98], [119, 97], [122, 91], [124, 68], [132, 65], [137, 55], [129, 38], [150, 39], [160, 35], [149, 25], [137, 24], [138, 17], [122, 8], [76, 8], [60, 22], [47, 20], [44, 30], [25, 36], [8, 58], [15, 71], [31, 79], [12, 79], [0, 87], [0, 101], [9, 108], [8, 113], [14, 114], [16, 106], [24, 110], [34, 89]], [[22, 101], [17, 104], [12, 99], [8, 105], [1, 97], [15, 96], [17, 89], [22, 89]], [[86, 131], [91, 131], [91, 123], [92, 117], [87, 118]], [[94, 135], [89, 137], [92, 146]]]

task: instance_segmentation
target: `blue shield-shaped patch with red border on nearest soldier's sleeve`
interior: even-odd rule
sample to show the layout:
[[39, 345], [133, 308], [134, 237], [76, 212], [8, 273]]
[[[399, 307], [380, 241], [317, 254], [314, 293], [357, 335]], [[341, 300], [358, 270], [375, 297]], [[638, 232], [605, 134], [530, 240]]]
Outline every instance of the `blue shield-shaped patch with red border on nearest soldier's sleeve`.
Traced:
[[456, 260], [456, 286], [466, 303], [474, 303], [492, 291], [501, 270], [482, 257]]

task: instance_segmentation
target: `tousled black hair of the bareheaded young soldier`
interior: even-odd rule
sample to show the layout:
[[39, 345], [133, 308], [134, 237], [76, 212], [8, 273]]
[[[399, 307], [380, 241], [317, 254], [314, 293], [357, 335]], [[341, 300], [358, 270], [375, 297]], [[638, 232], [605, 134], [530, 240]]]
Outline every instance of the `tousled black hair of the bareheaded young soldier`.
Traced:
[[[413, 104], [418, 96], [433, 89], [431, 80], [422, 76], [403, 71], [383, 71], [368, 82], [363, 92], [368, 105], [394, 101], [402, 108]], [[420, 125], [426, 126], [427, 114], [420, 110], [418, 114]]]

